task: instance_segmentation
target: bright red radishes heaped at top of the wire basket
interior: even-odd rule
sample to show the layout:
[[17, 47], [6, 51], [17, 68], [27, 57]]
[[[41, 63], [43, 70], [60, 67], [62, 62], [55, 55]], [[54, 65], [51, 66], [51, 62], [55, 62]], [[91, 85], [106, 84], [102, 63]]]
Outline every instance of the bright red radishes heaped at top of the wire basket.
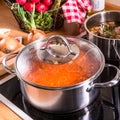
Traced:
[[16, 2], [23, 6], [25, 11], [32, 12], [33, 4], [37, 12], [44, 12], [50, 9], [53, 0], [16, 0]]

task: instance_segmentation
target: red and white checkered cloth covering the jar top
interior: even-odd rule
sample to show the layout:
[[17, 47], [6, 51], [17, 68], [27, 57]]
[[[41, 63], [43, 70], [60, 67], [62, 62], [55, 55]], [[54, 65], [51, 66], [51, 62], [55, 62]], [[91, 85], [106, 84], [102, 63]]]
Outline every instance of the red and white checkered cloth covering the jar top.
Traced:
[[77, 22], [82, 24], [86, 12], [91, 9], [92, 5], [89, 0], [67, 0], [62, 5], [64, 17], [68, 23]]

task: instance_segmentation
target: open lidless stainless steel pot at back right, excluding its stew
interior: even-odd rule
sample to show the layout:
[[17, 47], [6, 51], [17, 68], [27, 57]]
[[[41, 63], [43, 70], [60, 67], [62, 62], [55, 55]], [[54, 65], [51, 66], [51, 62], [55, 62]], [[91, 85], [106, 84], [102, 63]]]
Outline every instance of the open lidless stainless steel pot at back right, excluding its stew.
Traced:
[[110, 10], [93, 14], [85, 20], [84, 26], [88, 33], [88, 39], [100, 48], [105, 56], [105, 59], [107, 61], [118, 62], [120, 59], [120, 39], [98, 36], [89, 30], [91, 27], [111, 21], [120, 23], [120, 11]]

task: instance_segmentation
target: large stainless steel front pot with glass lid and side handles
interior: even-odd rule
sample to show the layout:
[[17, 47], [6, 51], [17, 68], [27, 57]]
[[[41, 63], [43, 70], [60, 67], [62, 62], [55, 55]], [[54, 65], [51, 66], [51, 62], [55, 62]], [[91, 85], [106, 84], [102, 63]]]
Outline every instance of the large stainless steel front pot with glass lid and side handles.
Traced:
[[[79, 58], [82, 51], [85, 51], [85, 54]], [[7, 66], [7, 59], [11, 55], [16, 55], [14, 69]], [[93, 60], [91, 61], [88, 59], [92, 63], [90, 68], [93, 70], [94, 68], [96, 69], [91, 76], [75, 84], [65, 86], [45, 86], [36, 84], [33, 81], [26, 79], [24, 76], [26, 71], [29, 70], [30, 74], [28, 77], [32, 76], [34, 71], [38, 72], [38, 65], [35, 66], [35, 64], [41, 61], [44, 64], [52, 65], [52, 68], [54, 69], [54, 66], [69, 66], [76, 60], [84, 63], [85, 59], [83, 58], [85, 56], [90, 56], [90, 59]], [[46, 61], [44, 61], [45, 59]], [[71, 36], [63, 37], [60, 35], [34, 41], [25, 46], [19, 53], [8, 54], [3, 58], [2, 65], [8, 72], [16, 74], [20, 79], [22, 94], [30, 104], [42, 111], [58, 114], [74, 112], [92, 104], [99, 96], [99, 89], [97, 88], [116, 85], [119, 82], [120, 75], [120, 71], [117, 67], [105, 65], [102, 52], [92, 42], [82, 38]], [[80, 62], [80, 65], [77, 65], [81, 66], [83, 64]], [[86, 69], [87, 65], [88, 64], [83, 65], [83, 68]], [[97, 67], [95, 65], [97, 65]], [[99, 76], [105, 67], [114, 68], [114, 70], [116, 70], [116, 76], [109, 82], [101, 83]], [[65, 71], [65, 69], [66, 68], [64, 67], [63, 71]], [[73, 69], [75, 70], [76, 68], [73, 66], [70, 71]], [[59, 67], [56, 68], [56, 71], [58, 70]], [[55, 72], [55, 74], [57, 73]], [[47, 78], [48, 81], [51, 76], [52, 73], [49, 74], [49, 78]], [[37, 79], [37, 76], [33, 77]], [[64, 77], [66, 76], [63, 76], [62, 83], [65, 82]], [[56, 81], [58, 79], [58, 77], [54, 78]]]

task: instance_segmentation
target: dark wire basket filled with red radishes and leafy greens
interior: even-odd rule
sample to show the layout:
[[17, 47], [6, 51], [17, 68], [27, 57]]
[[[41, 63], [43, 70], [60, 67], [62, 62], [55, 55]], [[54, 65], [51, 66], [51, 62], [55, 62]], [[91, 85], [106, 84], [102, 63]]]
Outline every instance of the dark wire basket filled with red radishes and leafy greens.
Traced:
[[[60, 7], [64, 2], [66, 0], [15, 0], [15, 3], [11, 4], [11, 10], [18, 18], [18, 23], [20, 19], [20, 27], [24, 27], [25, 32], [35, 29], [46, 31], [58, 29], [62, 25], [63, 18], [60, 15], [62, 14]], [[57, 23], [60, 23], [60, 25]]]

